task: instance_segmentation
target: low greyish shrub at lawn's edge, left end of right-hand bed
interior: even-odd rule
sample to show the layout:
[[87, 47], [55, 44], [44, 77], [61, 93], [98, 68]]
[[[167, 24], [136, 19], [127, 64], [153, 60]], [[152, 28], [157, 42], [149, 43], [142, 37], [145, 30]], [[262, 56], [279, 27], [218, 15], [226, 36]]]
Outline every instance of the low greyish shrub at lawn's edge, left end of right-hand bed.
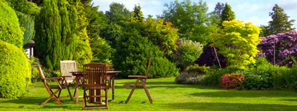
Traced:
[[183, 73], [179, 74], [175, 78], [175, 83], [181, 83], [181, 84], [200, 84], [200, 83], [203, 82], [203, 78], [205, 76], [206, 75], [183, 72]]

